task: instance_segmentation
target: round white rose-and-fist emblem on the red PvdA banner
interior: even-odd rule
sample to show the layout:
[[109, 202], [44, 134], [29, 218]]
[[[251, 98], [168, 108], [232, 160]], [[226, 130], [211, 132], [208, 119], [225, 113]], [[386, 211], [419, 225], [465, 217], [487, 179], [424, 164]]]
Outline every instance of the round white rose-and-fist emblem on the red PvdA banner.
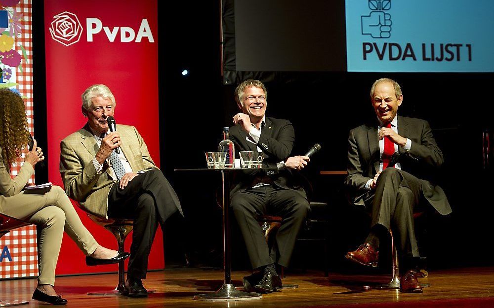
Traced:
[[53, 16], [50, 34], [51, 38], [65, 46], [77, 43], [82, 34], [79, 18], [67, 11]]

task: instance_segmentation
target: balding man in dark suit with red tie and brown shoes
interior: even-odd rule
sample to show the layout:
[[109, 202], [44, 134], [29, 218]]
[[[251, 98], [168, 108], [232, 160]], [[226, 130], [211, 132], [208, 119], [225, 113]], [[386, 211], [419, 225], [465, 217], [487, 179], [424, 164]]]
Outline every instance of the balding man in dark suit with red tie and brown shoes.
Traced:
[[[422, 292], [416, 277], [419, 257], [413, 213], [432, 205], [442, 215], [451, 206], [433, 177], [443, 163], [443, 153], [424, 120], [398, 116], [403, 102], [400, 85], [381, 78], [371, 88], [371, 102], [377, 121], [350, 131], [348, 176], [345, 183], [353, 203], [371, 212], [371, 232], [364, 244], [346, 258], [362, 265], [377, 263], [379, 239], [391, 228], [406, 273], [400, 291]], [[399, 153], [395, 168], [388, 164]], [[393, 163], [391, 163], [393, 164]], [[404, 266], [403, 266], [404, 265]]]

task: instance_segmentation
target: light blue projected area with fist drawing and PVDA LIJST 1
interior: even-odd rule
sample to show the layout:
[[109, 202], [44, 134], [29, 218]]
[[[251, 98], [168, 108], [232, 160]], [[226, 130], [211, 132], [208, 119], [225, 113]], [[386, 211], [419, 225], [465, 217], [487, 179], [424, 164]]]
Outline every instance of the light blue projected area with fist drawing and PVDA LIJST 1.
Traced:
[[346, 0], [348, 71], [492, 72], [493, 0]]

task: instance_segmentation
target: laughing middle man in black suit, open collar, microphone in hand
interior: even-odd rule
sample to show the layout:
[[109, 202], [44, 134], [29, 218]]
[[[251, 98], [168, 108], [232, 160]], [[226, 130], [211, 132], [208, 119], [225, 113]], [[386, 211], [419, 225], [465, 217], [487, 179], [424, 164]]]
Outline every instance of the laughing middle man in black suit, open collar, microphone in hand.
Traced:
[[[266, 117], [267, 91], [258, 80], [248, 79], [235, 90], [240, 113], [233, 117], [236, 126], [230, 128], [235, 152], [262, 151], [263, 167], [278, 171], [244, 171], [235, 179], [230, 192], [230, 205], [246, 242], [254, 269], [244, 277], [247, 292], [269, 293], [282, 286], [276, 264], [288, 267], [300, 230], [309, 209], [304, 189], [292, 174], [309, 162], [307, 156], [290, 157], [295, 133], [288, 120]], [[257, 222], [261, 215], [283, 218], [276, 234], [275, 248], [270, 251], [264, 233]]]

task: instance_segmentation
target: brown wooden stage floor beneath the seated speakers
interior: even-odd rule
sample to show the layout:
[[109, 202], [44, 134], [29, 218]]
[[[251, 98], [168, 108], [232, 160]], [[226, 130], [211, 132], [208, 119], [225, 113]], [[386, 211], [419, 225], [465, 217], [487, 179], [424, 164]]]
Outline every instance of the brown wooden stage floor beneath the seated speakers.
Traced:
[[[242, 285], [247, 272], [233, 272], [235, 286]], [[72, 308], [114, 307], [211, 307], [211, 308], [295, 308], [295, 307], [494, 307], [494, 268], [465, 268], [434, 271], [420, 278], [429, 283], [421, 294], [404, 294], [395, 290], [365, 290], [366, 282], [388, 282], [386, 275], [350, 275], [307, 272], [289, 273], [283, 282], [298, 284], [298, 289], [286, 289], [265, 294], [262, 299], [231, 302], [202, 302], [192, 297], [215, 291], [222, 283], [218, 270], [172, 269], [150, 272], [144, 281], [147, 288], [156, 289], [149, 298], [130, 299], [122, 296], [91, 296], [88, 291], [110, 289], [117, 274], [58, 277], [56, 290]], [[36, 279], [0, 281], [0, 299], [30, 300]], [[47, 307], [31, 300], [20, 307]]]

